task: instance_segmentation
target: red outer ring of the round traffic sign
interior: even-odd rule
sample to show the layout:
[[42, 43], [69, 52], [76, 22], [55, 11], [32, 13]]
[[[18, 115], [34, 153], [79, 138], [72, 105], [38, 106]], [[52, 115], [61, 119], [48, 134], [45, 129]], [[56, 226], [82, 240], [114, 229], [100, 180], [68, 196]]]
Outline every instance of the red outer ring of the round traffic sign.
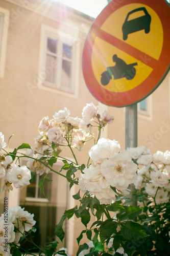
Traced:
[[[161, 51], [159, 60], [154, 63], [153, 71], [142, 83], [139, 84], [139, 86], [127, 92], [110, 92], [98, 83], [98, 81], [96, 80], [93, 74], [92, 65], [91, 65], [91, 56], [92, 56], [92, 49], [93, 49], [93, 44], [95, 40], [94, 35], [98, 33], [98, 29], [101, 28], [101, 26], [105, 22], [106, 20], [105, 17], [109, 17], [114, 11], [116, 11], [120, 7], [123, 7], [128, 4], [136, 4], [136, 3], [148, 5], [159, 16], [162, 23], [163, 36], [164, 36], [162, 51]], [[97, 100], [101, 101], [106, 105], [123, 107], [123, 106], [137, 103], [142, 99], [148, 97], [160, 85], [160, 83], [163, 81], [163, 79], [165, 78], [165, 76], [167, 75], [170, 69], [170, 63], [169, 63], [170, 33], [165, 33], [165, 31], [168, 32], [169, 30], [168, 24], [170, 24], [170, 15], [169, 15], [170, 12], [169, 12], [168, 6], [169, 4], [164, 0], [163, 1], [155, 0], [153, 3], [148, 2], [148, 0], [139, 0], [139, 1], [123, 0], [121, 1], [121, 3], [118, 3], [118, 1], [113, 0], [103, 9], [103, 11], [99, 14], [99, 16], [94, 20], [85, 41], [85, 45], [83, 49], [83, 57], [82, 57], [82, 67], [83, 67], [83, 75], [84, 75], [86, 85], [89, 91], [91, 92], [91, 94]], [[91, 34], [93, 36], [91, 36]], [[146, 59], [146, 62], [147, 62], [146, 56], [147, 56], [146, 54], [142, 53], [142, 55], [140, 56], [141, 61]], [[163, 65], [161, 65], [161, 63], [163, 63]]]

